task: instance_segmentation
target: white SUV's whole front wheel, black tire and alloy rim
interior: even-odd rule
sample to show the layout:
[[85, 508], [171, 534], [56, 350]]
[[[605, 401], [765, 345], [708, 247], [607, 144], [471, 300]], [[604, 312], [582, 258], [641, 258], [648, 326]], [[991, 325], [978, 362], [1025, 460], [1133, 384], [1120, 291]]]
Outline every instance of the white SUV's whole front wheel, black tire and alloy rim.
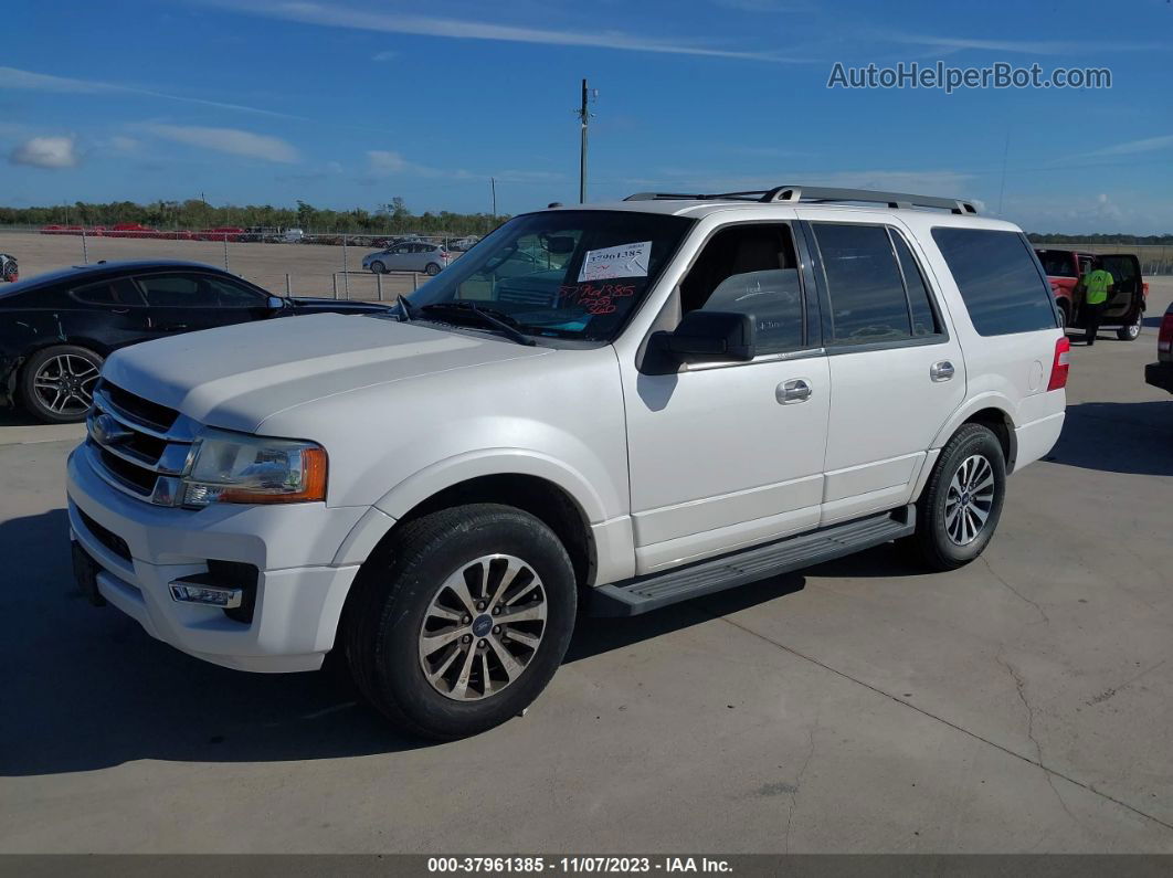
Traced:
[[574, 631], [574, 567], [554, 532], [511, 506], [472, 504], [402, 525], [364, 565], [341, 645], [364, 697], [436, 740], [524, 710]]

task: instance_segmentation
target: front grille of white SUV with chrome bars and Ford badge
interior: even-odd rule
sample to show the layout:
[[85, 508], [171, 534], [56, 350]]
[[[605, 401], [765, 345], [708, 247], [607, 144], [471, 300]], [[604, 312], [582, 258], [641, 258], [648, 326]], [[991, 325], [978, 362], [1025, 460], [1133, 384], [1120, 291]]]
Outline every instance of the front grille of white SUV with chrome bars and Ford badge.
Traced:
[[87, 429], [90, 464], [110, 485], [158, 505], [181, 501], [196, 433], [190, 418], [103, 379]]

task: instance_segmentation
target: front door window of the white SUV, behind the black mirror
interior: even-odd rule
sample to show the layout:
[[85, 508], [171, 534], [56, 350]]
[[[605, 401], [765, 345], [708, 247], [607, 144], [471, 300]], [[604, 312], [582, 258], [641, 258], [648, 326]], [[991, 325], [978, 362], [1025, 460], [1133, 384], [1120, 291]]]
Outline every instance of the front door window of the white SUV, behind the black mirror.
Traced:
[[714, 234], [680, 284], [680, 306], [754, 318], [758, 353], [802, 347], [802, 287], [787, 225], [737, 225]]

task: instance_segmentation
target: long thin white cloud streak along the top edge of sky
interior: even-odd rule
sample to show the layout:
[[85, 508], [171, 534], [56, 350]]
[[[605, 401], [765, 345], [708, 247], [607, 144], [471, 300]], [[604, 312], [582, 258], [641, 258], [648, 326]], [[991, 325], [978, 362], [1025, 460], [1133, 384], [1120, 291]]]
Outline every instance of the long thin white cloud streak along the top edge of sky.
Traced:
[[500, 42], [528, 42], [543, 46], [585, 46], [622, 52], [650, 52], [670, 55], [700, 55], [708, 57], [739, 59], [743, 61], [798, 62], [771, 52], [747, 52], [723, 49], [703, 43], [665, 42], [655, 38], [638, 36], [618, 30], [582, 28], [578, 30], [551, 30], [515, 25], [497, 25], [488, 21], [446, 19], [433, 15], [412, 15], [400, 12], [379, 12], [366, 8], [338, 6], [335, 4], [298, 0], [255, 0], [242, 7], [230, 0], [206, 0], [233, 12], [265, 15], [267, 18], [298, 21], [323, 27], [341, 27], [354, 30], [372, 30], [386, 34], [413, 34], [416, 36], [446, 36], [456, 40], [494, 40]]

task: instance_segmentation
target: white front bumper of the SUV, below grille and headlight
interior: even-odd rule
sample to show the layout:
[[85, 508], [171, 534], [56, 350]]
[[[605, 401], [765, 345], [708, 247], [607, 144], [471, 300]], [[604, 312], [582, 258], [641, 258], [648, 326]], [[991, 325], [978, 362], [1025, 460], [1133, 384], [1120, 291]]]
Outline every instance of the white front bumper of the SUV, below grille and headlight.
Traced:
[[[110, 488], [77, 452], [69, 457], [68, 499], [70, 539], [97, 563], [102, 597], [151, 637], [196, 658], [257, 672], [313, 671], [333, 647], [358, 572], [358, 565], [333, 559], [365, 509], [152, 506]], [[88, 526], [82, 513], [99, 529]], [[104, 539], [100, 529], [108, 531]], [[206, 572], [210, 558], [259, 571], [251, 622], [171, 599], [168, 584]]]

